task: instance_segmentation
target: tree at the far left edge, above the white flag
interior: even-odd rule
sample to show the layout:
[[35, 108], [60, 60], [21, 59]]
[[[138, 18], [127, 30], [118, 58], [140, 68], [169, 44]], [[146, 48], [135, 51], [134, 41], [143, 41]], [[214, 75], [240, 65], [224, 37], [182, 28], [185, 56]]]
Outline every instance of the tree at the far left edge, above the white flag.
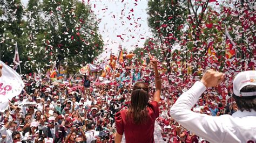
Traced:
[[[1, 1], [0, 16], [0, 56], [1, 60], [11, 64], [12, 58], [14, 58], [15, 43], [17, 42], [18, 50], [21, 53], [26, 42], [23, 35], [26, 23], [22, 20], [23, 6], [21, 1]], [[20, 60], [22, 61], [23, 58], [20, 58]]]

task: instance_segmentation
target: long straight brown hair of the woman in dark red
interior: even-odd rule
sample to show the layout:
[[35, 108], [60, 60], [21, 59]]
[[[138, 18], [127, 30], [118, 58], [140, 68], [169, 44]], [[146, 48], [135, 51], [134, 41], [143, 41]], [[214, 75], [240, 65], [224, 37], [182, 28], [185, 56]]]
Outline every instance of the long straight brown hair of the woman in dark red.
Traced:
[[147, 103], [149, 102], [149, 87], [145, 82], [137, 82], [133, 86], [131, 105], [126, 113], [126, 120], [133, 124], [146, 124]]

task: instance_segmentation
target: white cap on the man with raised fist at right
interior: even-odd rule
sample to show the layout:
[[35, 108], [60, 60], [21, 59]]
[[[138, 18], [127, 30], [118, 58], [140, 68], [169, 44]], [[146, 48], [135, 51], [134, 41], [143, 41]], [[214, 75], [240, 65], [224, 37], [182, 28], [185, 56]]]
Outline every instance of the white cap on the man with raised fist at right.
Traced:
[[256, 92], [240, 92], [246, 85], [256, 85], [256, 70], [242, 71], [235, 76], [233, 81], [233, 92], [236, 96], [255, 96]]

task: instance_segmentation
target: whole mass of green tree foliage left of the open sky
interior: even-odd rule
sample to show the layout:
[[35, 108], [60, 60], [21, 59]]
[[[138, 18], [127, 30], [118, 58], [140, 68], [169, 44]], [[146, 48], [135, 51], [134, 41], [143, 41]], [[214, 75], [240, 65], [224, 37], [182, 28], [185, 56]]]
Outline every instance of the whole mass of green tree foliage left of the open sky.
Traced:
[[54, 65], [75, 73], [102, 53], [103, 40], [90, 5], [68, 0], [30, 0], [23, 10], [20, 1], [8, 0], [0, 15], [5, 17], [0, 19], [4, 41], [0, 56], [12, 64], [17, 41], [23, 73], [45, 73]]

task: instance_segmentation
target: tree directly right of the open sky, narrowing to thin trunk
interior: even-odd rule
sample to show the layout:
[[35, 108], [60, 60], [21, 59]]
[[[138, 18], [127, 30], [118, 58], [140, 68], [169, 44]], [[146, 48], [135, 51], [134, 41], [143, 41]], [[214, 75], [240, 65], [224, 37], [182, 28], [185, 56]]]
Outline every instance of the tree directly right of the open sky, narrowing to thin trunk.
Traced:
[[[185, 2], [184, 2], [185, 3]], [[172, 48], [181, 41], [184, 24], [186, 23], [187, 9], [184, 3], [177, 1], [149, 1], [148, 23], [154, 37], [159, 41], [161, 53], [167, 63], [167, 73], [171, 72]], [[149, 41], [150, 46], [152, 42]]]

